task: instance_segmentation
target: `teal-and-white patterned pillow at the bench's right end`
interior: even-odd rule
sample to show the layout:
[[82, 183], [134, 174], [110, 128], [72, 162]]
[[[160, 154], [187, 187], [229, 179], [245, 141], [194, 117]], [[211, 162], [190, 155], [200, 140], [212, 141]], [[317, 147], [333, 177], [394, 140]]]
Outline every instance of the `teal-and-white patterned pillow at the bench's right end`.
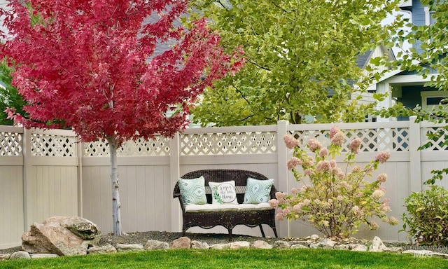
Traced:
[[274, 179], [253, 179], [249, 177], [246, 183], [246, 193], [244, 193], [244, 204], [260, 204], [260, 202], [268, 202], [271, 196], [272, 184]]

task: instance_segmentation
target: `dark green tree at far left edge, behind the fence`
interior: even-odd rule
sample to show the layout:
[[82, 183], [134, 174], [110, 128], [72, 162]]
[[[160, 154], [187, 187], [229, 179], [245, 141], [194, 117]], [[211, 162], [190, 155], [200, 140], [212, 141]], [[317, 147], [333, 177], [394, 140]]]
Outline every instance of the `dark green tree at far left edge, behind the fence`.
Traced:
[[7, 118], [8, 114], [4, 111], [10, 107], [15, 109], [17, 113], [26, 117], [25, 111], [22, 107], [26, 104], [23, 100], [22, 95], [19, 94], [18, 90], [11, 85], [13, 77], [11, 76], [11, 69], [3, 60], [0, 62], [0, 81], [3, 85], [0, 86], [0, 125], [13, 125], [14, 120]]

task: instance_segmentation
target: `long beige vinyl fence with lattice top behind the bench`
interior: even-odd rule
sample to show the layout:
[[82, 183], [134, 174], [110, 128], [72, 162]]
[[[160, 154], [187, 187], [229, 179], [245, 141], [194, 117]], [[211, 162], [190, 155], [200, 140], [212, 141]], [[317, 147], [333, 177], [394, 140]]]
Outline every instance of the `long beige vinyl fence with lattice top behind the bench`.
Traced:
[[[174, 184], [183, 174], [200, 169], [253, 170], [275, 179], [279, 191], [297, 186], [286, 163], [291, 152], [283, 135], [293, 134], [302, 142], [316, 138], [328, 145], [328, 132], [335, 124], [190, 128], [172, 139], [126, 142], [118, 154], [121, 218], [125, 232], [181, 230], [179, 200], [172, 198]], [[390, 123], [339, 123], [346, 134], [363, 140], [356, 160], [364, 165], [380, 151], [391, 158], [374, 174], [386, 172], [386, 197], [391, 214], [400, 219], [403, 199], [421, 191], [431, 170], [448, 165], [448, 151], [441, 142], [423, 151], [425, 134], [443, 125], [398, 121]], [[346, 146], [346, 145], [345, 145]], [[341, 160], [342, 161], [342, 158]], [[109, 149], [102, 142], [80, 143], [69, 130], [24, 130], [0, 126], [0, 249], [21, 244], [21, 236], [34, 222], [49, 216], [83, 216], [97, 223], [102, 233], [112, 230]], [[447, 188], [447, 181], [437, 182]], [[405, 241], [398, 226], [381, 221], [379, 230], [361, 227], [356, 237]], [[317, 233], [300, 221], [279, 221], [279, 236], [304, 237]], [[227, 233], [191, 228], [196, 233]], [[267, 236], [272, 230], [265, 228]], [[258, 228], [237, 227], [237, 233], [260, 236]]]

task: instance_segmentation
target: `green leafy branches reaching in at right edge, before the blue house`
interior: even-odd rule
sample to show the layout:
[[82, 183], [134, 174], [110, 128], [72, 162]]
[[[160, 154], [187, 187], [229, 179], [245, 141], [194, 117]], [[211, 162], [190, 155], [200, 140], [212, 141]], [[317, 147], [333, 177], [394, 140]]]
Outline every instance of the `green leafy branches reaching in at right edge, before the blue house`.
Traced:
[[[412, 25], [408, 23], [409, 32], [397, 32], [395, 38], [390, 42], [396, 44], [402, 50], [397, 54], [398, 59], [393, 62], [396, 68], [406, 71], [416, 71], [423, 78], [430, 77], [430, 81], [425, 86], [433, 87], [437, 90], [448, 90], [448, 1], [421, 0], [423, 6], [428, 6], [433, 16], [431, 25]], [[403, 43], [407, 41], [412, 48], [403, 48]], [[446, 103], [448, 99], [442, 100]], [[402, 104], [395, 104], [389, 109], [380, 111], [380, 116], [387, 118], [390, 116], [416, 116], [416, 122], [430, 120], [434, 123], [447, 123], [447, 106], [440, 104], [435, 109], [423, 110], [417, 105], [414, 108], [405, 107]], [[427, 134], [428, 142], [420, 146], [419, 149], [426, 149], [434, 142], [440, 146], [448, 146], [448, 126], [444, 126], [435, 132]], [[442, 179], [444, 174], [448, 174], [448, 168], [431, 171], [433, 177], [426, 181], [426, 184], [435, 184], [435, 181]]]

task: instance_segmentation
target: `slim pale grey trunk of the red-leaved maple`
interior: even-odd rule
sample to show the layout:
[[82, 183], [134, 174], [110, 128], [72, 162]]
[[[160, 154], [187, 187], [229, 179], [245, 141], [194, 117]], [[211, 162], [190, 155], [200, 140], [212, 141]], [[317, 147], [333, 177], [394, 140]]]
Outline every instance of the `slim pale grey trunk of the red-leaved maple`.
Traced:
[[118, 191], [120, 183], [118, 182], [117, 144], [114, 139], [108, 139], [108, 141], [111, 155], [113, 234], [123, 235], [123, 230], [121, 228], [120, 193]]

